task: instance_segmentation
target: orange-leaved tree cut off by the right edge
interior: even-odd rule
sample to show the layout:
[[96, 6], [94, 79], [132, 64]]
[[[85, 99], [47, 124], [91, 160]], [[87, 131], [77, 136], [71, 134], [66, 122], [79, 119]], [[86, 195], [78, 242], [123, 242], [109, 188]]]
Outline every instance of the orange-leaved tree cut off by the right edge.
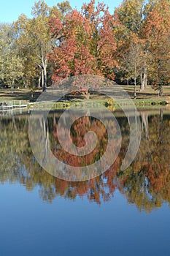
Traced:
[[170, 54], [170, 13], [169, 1], [155, 1], [150, 11], [143, 33], [147, 37], [150, 51], [148, 76], [155, 89], [162, 94], [163, 84], [169, 84]]

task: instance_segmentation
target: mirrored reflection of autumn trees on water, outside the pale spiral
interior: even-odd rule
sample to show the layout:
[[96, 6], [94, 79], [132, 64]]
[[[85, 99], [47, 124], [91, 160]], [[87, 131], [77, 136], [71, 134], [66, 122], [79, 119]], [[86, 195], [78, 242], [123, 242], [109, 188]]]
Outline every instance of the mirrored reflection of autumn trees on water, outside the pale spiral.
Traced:
[[[50, 176], [37, 164], [28, 142], [28, 116], [12, 116], [0, 119], [0, 182], [19, 183], [31, 191], [39, 186], [42, 200], [49, 202], [58, 195], [74, 200], [75, 197], [87, 197], [89, 201], [103, 203], [113, 197], [119, 189], [140, 211], [152, 211], [163, 202], [170, 203], [170, 115], [163, 110], [139, 111], [142, 121], [142, 141], [136, 159], [125, 171], [120, 171], [129, 141], [128, 119], [120, 112], [115, 113], [120, 124], [123, 142], [120, 154], [114, 165], [101, 176], [90, 181], [69, 182]], [[83, 165], [85, 161], [95, 162], [104, 154], [107, 145], [107, 131], [103, 124], [88, 116], [78, 119], [72, 126], [72, 140], [77, 146], [83, 146], [84, 134], [92, 127], [100, 138], [96, 149], [87, 159], [70, 157], [58, 143], [56, 127], [61, 113], [51, 113], [46, 129], [49, 132], [50, 147], [53, 154], [72, 165]], [[84, 124], [82, 127], [81, 124]], [[80, 131], [79, 127], [82, 127]], [[112, 123], [110, 123], [112, 127]], [[118, 143], [118, 142], [117, 142]], [[41, 146], [41, 145], [39, 145]]]

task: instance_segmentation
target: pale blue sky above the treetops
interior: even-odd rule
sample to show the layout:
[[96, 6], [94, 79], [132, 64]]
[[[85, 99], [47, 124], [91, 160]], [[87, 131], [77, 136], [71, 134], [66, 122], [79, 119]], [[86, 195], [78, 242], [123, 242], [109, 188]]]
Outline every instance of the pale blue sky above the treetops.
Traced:
[[[12, 21], [18, 20], [18, 16], [21, 13], [25, 13], [28, 17], [31, 17], [31, 7], [34, 6], [34, 2], [35, 0], [0, 0], [0, 23], [12, 23]], [[61, 1], [46, 0], [45, 2], [48, 6], [52, 7]], [[77, 7], [77, 9], [80, 10], [82, 3], [89, 1], [70, 0], [69, 2], [73, 8]], [[113, 12], [115, 7], [117, 7], [122, 0], [103, 0], [103, 2], [109, 6], [110, 12]]]

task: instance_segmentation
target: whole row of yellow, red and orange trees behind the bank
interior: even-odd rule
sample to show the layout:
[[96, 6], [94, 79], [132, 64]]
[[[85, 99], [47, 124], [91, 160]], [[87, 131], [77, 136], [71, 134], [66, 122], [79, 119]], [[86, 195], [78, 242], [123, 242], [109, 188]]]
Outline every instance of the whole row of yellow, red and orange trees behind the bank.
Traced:
[[35, 2], [0, 24], [0, 85], [36, 89], [74, 75], [100, 75], [117, 83], [170, 84], [170, 1], [124, 0], [113, 13], [91, 0]]

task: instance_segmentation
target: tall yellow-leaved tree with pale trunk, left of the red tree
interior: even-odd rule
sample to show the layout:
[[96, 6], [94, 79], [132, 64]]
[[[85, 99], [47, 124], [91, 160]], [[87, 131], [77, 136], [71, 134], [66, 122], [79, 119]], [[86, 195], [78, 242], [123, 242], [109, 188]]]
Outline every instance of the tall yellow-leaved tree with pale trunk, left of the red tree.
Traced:
[[[20, 15], [15, 23], [15, 28], [18, 31], [17, 42], [23, 50], [23, 56], [27, 57], [25, 62], [25, 67], [28, 64], [25, 70], [26, 78], [33, 74], [39, 78], [41, 76], [42, 89], [45, 90], [47, 86], [47, 53], [50, 52], [51, 47], [48, 26], [49, 8], [45, 1], [40, 0], [35, 2], [31, 13], [32, 19], [26, 18], [26, 15]], [[31, 69], [28, 70], [28, 67]]]

